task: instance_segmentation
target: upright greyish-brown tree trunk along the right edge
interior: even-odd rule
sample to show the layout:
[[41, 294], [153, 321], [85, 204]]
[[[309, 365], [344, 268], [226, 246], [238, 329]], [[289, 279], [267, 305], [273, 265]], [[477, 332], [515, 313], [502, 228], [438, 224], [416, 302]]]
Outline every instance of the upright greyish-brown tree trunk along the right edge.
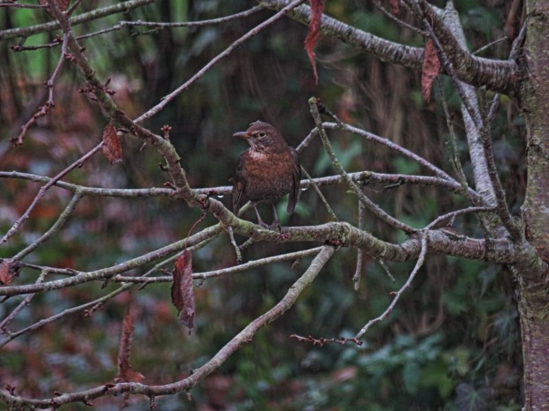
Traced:
[[[526, 239], [549, 261], [549, 2], [526, 2], [526, 81], [519, 103], [527, 129]], [[549, 410], [549, 296], [546, 267], [520, 270], [519, 312], [524, 356], [525, 410]]]

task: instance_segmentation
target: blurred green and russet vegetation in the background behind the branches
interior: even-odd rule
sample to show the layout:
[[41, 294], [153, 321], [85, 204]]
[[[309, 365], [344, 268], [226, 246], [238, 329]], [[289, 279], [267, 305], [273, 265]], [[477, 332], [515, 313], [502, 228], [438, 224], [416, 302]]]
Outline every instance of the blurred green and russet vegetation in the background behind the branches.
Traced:
[[[113, 1], [84, 1], [78, 12]], [[509, 16], [511, 1], [460, 1], [456, 7], [471, 50], [498, 40], [516, 26]], [[253, 1], [161, 1], [126, 14], [73, 27], [76, 34], [110, 27], [119, 19], [194, 21], [239, 12]], [[439, 2], [439, 5], [442, 5]], [[327, 14], [377, 36], [410, 45], [423, 40], [388, 21], [371, 2], [327, 1]], [[138, 116], [185, 82], [233, 40], [272, 12], [202, 28], [149, 31], [125, 27], [82, 40], [86, 55], [102, 79], [111, 79], [115, 101]], [[0, 8], [0, 29], [49, 20], [43, 12]], [[410, 23], [412, 23], [410, 21]], [[515, 26], [513, 26], [515, 24]], [[307, 29], [283, 18], [260, 32], [229, 58], [213, 67], [161, 113], [145, 123], [155, 132], [171, 125], [171, 140], [183, 158], [194, 187], [228, 185], [237, 155], [245, 143], [233, 132], [261, 119], [281, 129], [296, 146], [312, 129], [307, 99], [320, 97], [340, 119], [385, 136], [450, 171], [448, 132], [438, 90], [431, 103], [421, 100], [420, 73], [391, 66], [336, 40], [320, 38], [316, 55], [320, 81], [303, 51]], [[51, 42], [55, 34], [39, 34], [25, 45]], [[19, 41], [19, 40], [17, 40]], [[43, 83], [53, 71], [58, 48], [15, 53], [15, 41], [0, 45], [0, 169], [53, 176], [100, 141], [106, 120], [95, 103], [78, 93], [84, 86], [68, 64], [56, 82], [56, 108], [32, 127], [25, 144], [12, 148], [16, 134], [43, 103]], [[506, 58], [510, 41], [482, 51], [485, 57]], [[458, 149], [470, 173], [459, 102], [446, 78], [443, 90], [456, 113]], [[490, 93], [487, 93], [490, 97]], [[524, 197], [524, 125], [513, 103], [500, 105], [493, 126], [495, 155], [513, 211]], [[331, 132], [334, 149], [347, 171], [382, 173], [425, 172], [358, 136]], [[161, 186], [159, 155], [139, 151], [137, 141], [124, 140], [124, 162], [110, 166], [97, 155], [67, 181], [86, 186], [147, 188]], [[302, 155], [315, 177], [334, 174], [320, 143]], [[24, 212], [39, 185], [0, 179], [0, 232]], [[323, 188], [338, 218], [356, 223], [355, 197], [343, 186]], [[384, 210], [421, 227], [436, 216], [465, 206], [465, 201], [436, 188], [400, 186], [384, 190], [366, 186], [366, 193]], [[11, 256], [55, 221], [70, 195], [54, 188], [40, 202], [22, 230], [0, 249]], [[229, 204], [230, 199], [223, 199]], [[266, 209], [265, 209], [266, 210]], [[86, 197], [62, 234], [51, 239], [25, 262], [73, 267], [86, 271], [116, 264], [187, 235], [200, 216], [172, 199]], [[329, 221], [314, 190], [303, 192], [297, 213], [285, 212], [283, 224], [314, 225]], [[253, 213], [247, 214], [252, 218]], [[205, 223], [212, 223], [208, 217]], [[480, 236], [474, 218], [460, 217], [456, 228]], [[199, 226], [200, 227], [200, 226]], [[403, 240], [384, 223], [366, 218], [365, 228], [386, 240]], [[242, 240], [242, 239], [240, 239]], [[246, 260], [299, 249], [298, 245], [253, 245]], [[369, 330], [362, 347], [297, 343], [290, 334], [351, 337], [379, 315], [389, 292], [406, 281], [412, 264], [389, 263], [392, 282], [375, 260], [364, 256], [360, 290], [353, 290], [355, 252], [342, 250], [320, 273], [296, 306], [262, 330], [252, 343], [193, 390], [156, 399], [161, 410], [519, 410], [521, 349], [513, 277], [504, 267], [458, 258], [430, 256], [420, 275], [388, 321]], [[197, 251], [194, 271], [235, 263], [227, 238]], [[124, 293], [92, 315], [81, 312], [60, 323], [17, 338], [0, 356], [0, 379], [16, 393], [43, 397], [52, 391], [82, 390], [113, 379], [121, 319], [129, 303], [137, 310], [132, 366], [145, 383], [165, 384], [203, 364], [249, 321], [276, 303], [309, 261], [272, 264], [230, 277], [198, 284], [196, 329], [191, 336], [179, 323], [170, 303], [170, 284], [153, 284], [132, 295]], [[16, 282], [33, 282], [36, 272], [23, 270]], [[20, 329], [71, 306], [105, 295], [110, 284], [77, 286], [36, 295], [10, 329]], [[19, 304], [0, 306], [1, 318]], [[95, 401], [100, 410], [115, 410], [121, 399]], [[148, 409], [148, 401], [132, 398], [132, 409]], [[71, 409], [84, 409], [73, 406]]]

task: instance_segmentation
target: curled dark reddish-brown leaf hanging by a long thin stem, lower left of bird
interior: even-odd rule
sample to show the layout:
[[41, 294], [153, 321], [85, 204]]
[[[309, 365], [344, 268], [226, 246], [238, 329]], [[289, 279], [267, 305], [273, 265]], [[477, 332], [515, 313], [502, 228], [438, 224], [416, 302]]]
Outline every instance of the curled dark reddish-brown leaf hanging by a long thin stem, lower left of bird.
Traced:
[[172, 303], [177, 308], [180, 321], [189, 329], [194, 327], [194, 294], [191, 251], [185, 249], [174, 264]]

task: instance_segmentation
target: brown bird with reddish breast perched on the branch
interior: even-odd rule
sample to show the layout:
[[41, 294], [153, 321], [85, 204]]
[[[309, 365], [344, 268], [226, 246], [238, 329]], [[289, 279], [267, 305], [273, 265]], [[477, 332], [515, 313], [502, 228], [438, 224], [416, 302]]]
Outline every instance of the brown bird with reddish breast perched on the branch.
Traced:
[[[233, 181], [233, 212], [249, 200], [263, 227], [280, 227], [274, 201], [290, 193], [288, 214], [292, 214], [299, 200], [301, 166], [299, 155], [288, 146], [277, 129], [263, 121], [251, 123], [245, 132], [233, 134], [246, 138], [250, 148], [238, 156]], [[268, 202], [272, 206], [274, 221], [269, 226], [261, 220], [257, 203]]]

